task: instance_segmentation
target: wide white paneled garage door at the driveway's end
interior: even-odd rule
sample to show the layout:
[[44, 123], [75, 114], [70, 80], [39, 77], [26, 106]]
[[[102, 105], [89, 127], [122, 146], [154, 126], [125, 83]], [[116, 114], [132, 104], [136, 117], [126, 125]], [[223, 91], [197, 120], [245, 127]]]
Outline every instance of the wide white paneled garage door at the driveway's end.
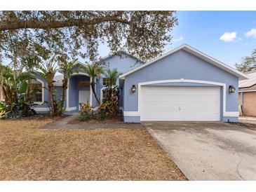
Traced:
[[220, 87], [142, 86], [141, 121], [220, 121]]

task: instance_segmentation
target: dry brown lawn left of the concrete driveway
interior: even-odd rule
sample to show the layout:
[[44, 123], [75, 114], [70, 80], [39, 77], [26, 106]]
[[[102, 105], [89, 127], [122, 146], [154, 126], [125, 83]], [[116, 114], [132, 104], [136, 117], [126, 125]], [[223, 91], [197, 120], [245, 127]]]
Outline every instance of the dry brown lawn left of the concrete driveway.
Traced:
[[41, 130], [0, 121], [0, 180], [184, 180], [147, 130]]

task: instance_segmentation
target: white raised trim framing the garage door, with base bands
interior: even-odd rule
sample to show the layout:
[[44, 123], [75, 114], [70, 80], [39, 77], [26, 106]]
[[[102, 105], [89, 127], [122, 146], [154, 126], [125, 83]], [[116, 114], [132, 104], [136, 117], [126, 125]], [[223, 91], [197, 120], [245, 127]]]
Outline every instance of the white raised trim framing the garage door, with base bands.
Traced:
[[199, 81], [199, 80], [191, 80], [191, 79], [168, 79], [168, 80], [160, 80], [160, 81], [147, 81], [138, 83], [137, 88], [137, 111], [123, 111], [124, 116], [140, 116], [140, 109], [141, 109], [141, 101], [142, 101], [142, 95], [141, 95], [141, 87], [142, 85], [151, 85], [151, 84], [158, 84], [158, 83], [202, 83], [202, 84], [209, 84], [209, 85], [219, 85], [223, 88], [223, 116], [224, 117], [238, 117], [239, 112], [238, 111], [226, 111], [226, 84], [225, 83], [219, 83], [219, 82], [213, 82], [213, 81]]

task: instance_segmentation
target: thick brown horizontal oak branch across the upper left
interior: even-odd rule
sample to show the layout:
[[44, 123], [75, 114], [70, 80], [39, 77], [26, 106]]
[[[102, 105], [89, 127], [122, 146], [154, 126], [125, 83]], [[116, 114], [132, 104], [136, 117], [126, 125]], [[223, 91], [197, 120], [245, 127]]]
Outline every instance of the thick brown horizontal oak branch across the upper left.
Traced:
[[13, 30], [13, 29], [56, 29], [62, 27], [79, 27], [81, 25], [97, 25], [102, 22], [120, 22], [126, 25], [130, 25], [128, 20], [116, 18], [116, 16], [106, 16], [102, 18], [95, 18], [92, 20], [52, 20], [52, 21], [41, 21], [41, 20], [10, 20], [0, 21], [0, 31]]

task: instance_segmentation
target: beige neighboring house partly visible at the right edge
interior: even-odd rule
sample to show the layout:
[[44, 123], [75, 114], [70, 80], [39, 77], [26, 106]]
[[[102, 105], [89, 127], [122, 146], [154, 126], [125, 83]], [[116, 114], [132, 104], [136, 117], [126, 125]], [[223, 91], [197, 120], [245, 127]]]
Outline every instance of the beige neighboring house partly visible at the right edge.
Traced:
[[249, 78], [239, 80], [240, 115], [256, 116], [256, 70], [245, 73]]

